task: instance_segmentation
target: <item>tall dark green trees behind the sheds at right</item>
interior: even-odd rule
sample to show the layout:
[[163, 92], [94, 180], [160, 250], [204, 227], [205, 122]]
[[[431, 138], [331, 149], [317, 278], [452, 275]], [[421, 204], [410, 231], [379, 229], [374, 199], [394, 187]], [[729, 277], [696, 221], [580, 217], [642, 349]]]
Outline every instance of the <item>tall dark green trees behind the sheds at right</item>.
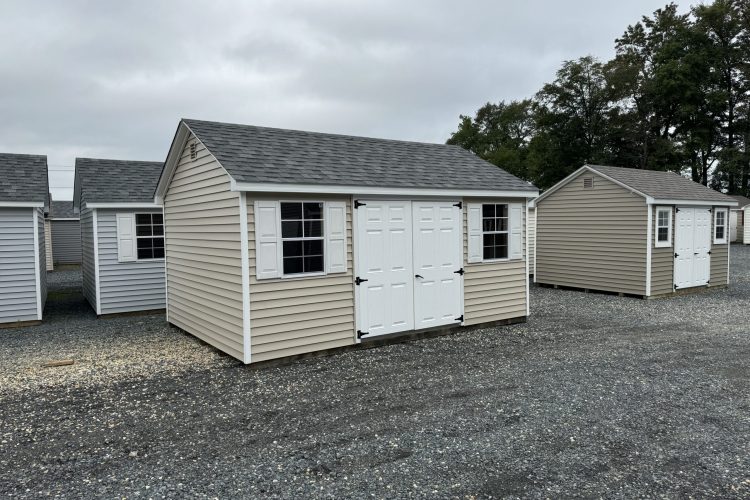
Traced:
[[533, 98], [487, 103], [448, 139], [545, 189], [585, 163], [671, 170], [750, 196], [750, 2], [674, 3], [606, 62], [565, 61]]

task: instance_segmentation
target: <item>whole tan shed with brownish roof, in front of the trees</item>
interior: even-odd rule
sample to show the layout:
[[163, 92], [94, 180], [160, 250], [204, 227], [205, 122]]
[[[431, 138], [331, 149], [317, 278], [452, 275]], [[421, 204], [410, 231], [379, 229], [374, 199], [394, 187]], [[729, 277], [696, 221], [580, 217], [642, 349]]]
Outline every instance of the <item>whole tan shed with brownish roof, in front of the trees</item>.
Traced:
[[641, 297], [726, 286], [736, 204], [671, 172], [585, 165], [536, 200], [534, 280]]

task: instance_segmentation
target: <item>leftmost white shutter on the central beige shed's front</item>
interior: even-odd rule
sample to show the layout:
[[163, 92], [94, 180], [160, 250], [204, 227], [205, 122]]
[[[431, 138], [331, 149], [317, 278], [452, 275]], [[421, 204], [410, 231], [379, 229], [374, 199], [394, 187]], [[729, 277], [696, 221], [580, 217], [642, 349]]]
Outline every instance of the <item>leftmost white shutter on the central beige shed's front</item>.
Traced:
[[281, 276], [281, 214], [278, 201], [255, 202], [255, 274]]

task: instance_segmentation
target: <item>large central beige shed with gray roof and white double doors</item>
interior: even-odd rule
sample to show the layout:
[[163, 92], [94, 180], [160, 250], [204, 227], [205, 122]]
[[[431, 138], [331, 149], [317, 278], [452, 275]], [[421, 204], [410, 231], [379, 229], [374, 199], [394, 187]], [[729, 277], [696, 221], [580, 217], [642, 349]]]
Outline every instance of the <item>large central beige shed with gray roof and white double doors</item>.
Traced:
[[537, 193], [455, 146], [182, 120], [167, 319], [245, 363], [523, 321]]

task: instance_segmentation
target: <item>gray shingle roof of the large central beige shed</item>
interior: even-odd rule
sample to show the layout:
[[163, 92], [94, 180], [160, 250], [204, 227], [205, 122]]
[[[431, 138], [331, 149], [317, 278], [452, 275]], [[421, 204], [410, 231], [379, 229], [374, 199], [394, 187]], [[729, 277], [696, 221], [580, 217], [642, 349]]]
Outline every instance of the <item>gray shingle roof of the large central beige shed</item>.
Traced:
[[183, 122], [237, 182], [536, 190], [458, 146]]

